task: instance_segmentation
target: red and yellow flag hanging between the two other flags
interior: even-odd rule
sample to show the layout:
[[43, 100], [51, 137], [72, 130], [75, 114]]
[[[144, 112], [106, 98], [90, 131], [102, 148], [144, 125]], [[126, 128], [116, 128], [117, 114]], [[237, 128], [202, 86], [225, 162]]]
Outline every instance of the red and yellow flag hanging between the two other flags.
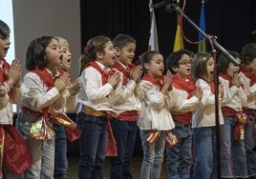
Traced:
[[177, 29], [176, 29], [176, 35], [174, 40], [174, 47], [173, 51], [184, 49], [183, 45], [183, 37], [181, 34], [181, 15], [177, 15]]

